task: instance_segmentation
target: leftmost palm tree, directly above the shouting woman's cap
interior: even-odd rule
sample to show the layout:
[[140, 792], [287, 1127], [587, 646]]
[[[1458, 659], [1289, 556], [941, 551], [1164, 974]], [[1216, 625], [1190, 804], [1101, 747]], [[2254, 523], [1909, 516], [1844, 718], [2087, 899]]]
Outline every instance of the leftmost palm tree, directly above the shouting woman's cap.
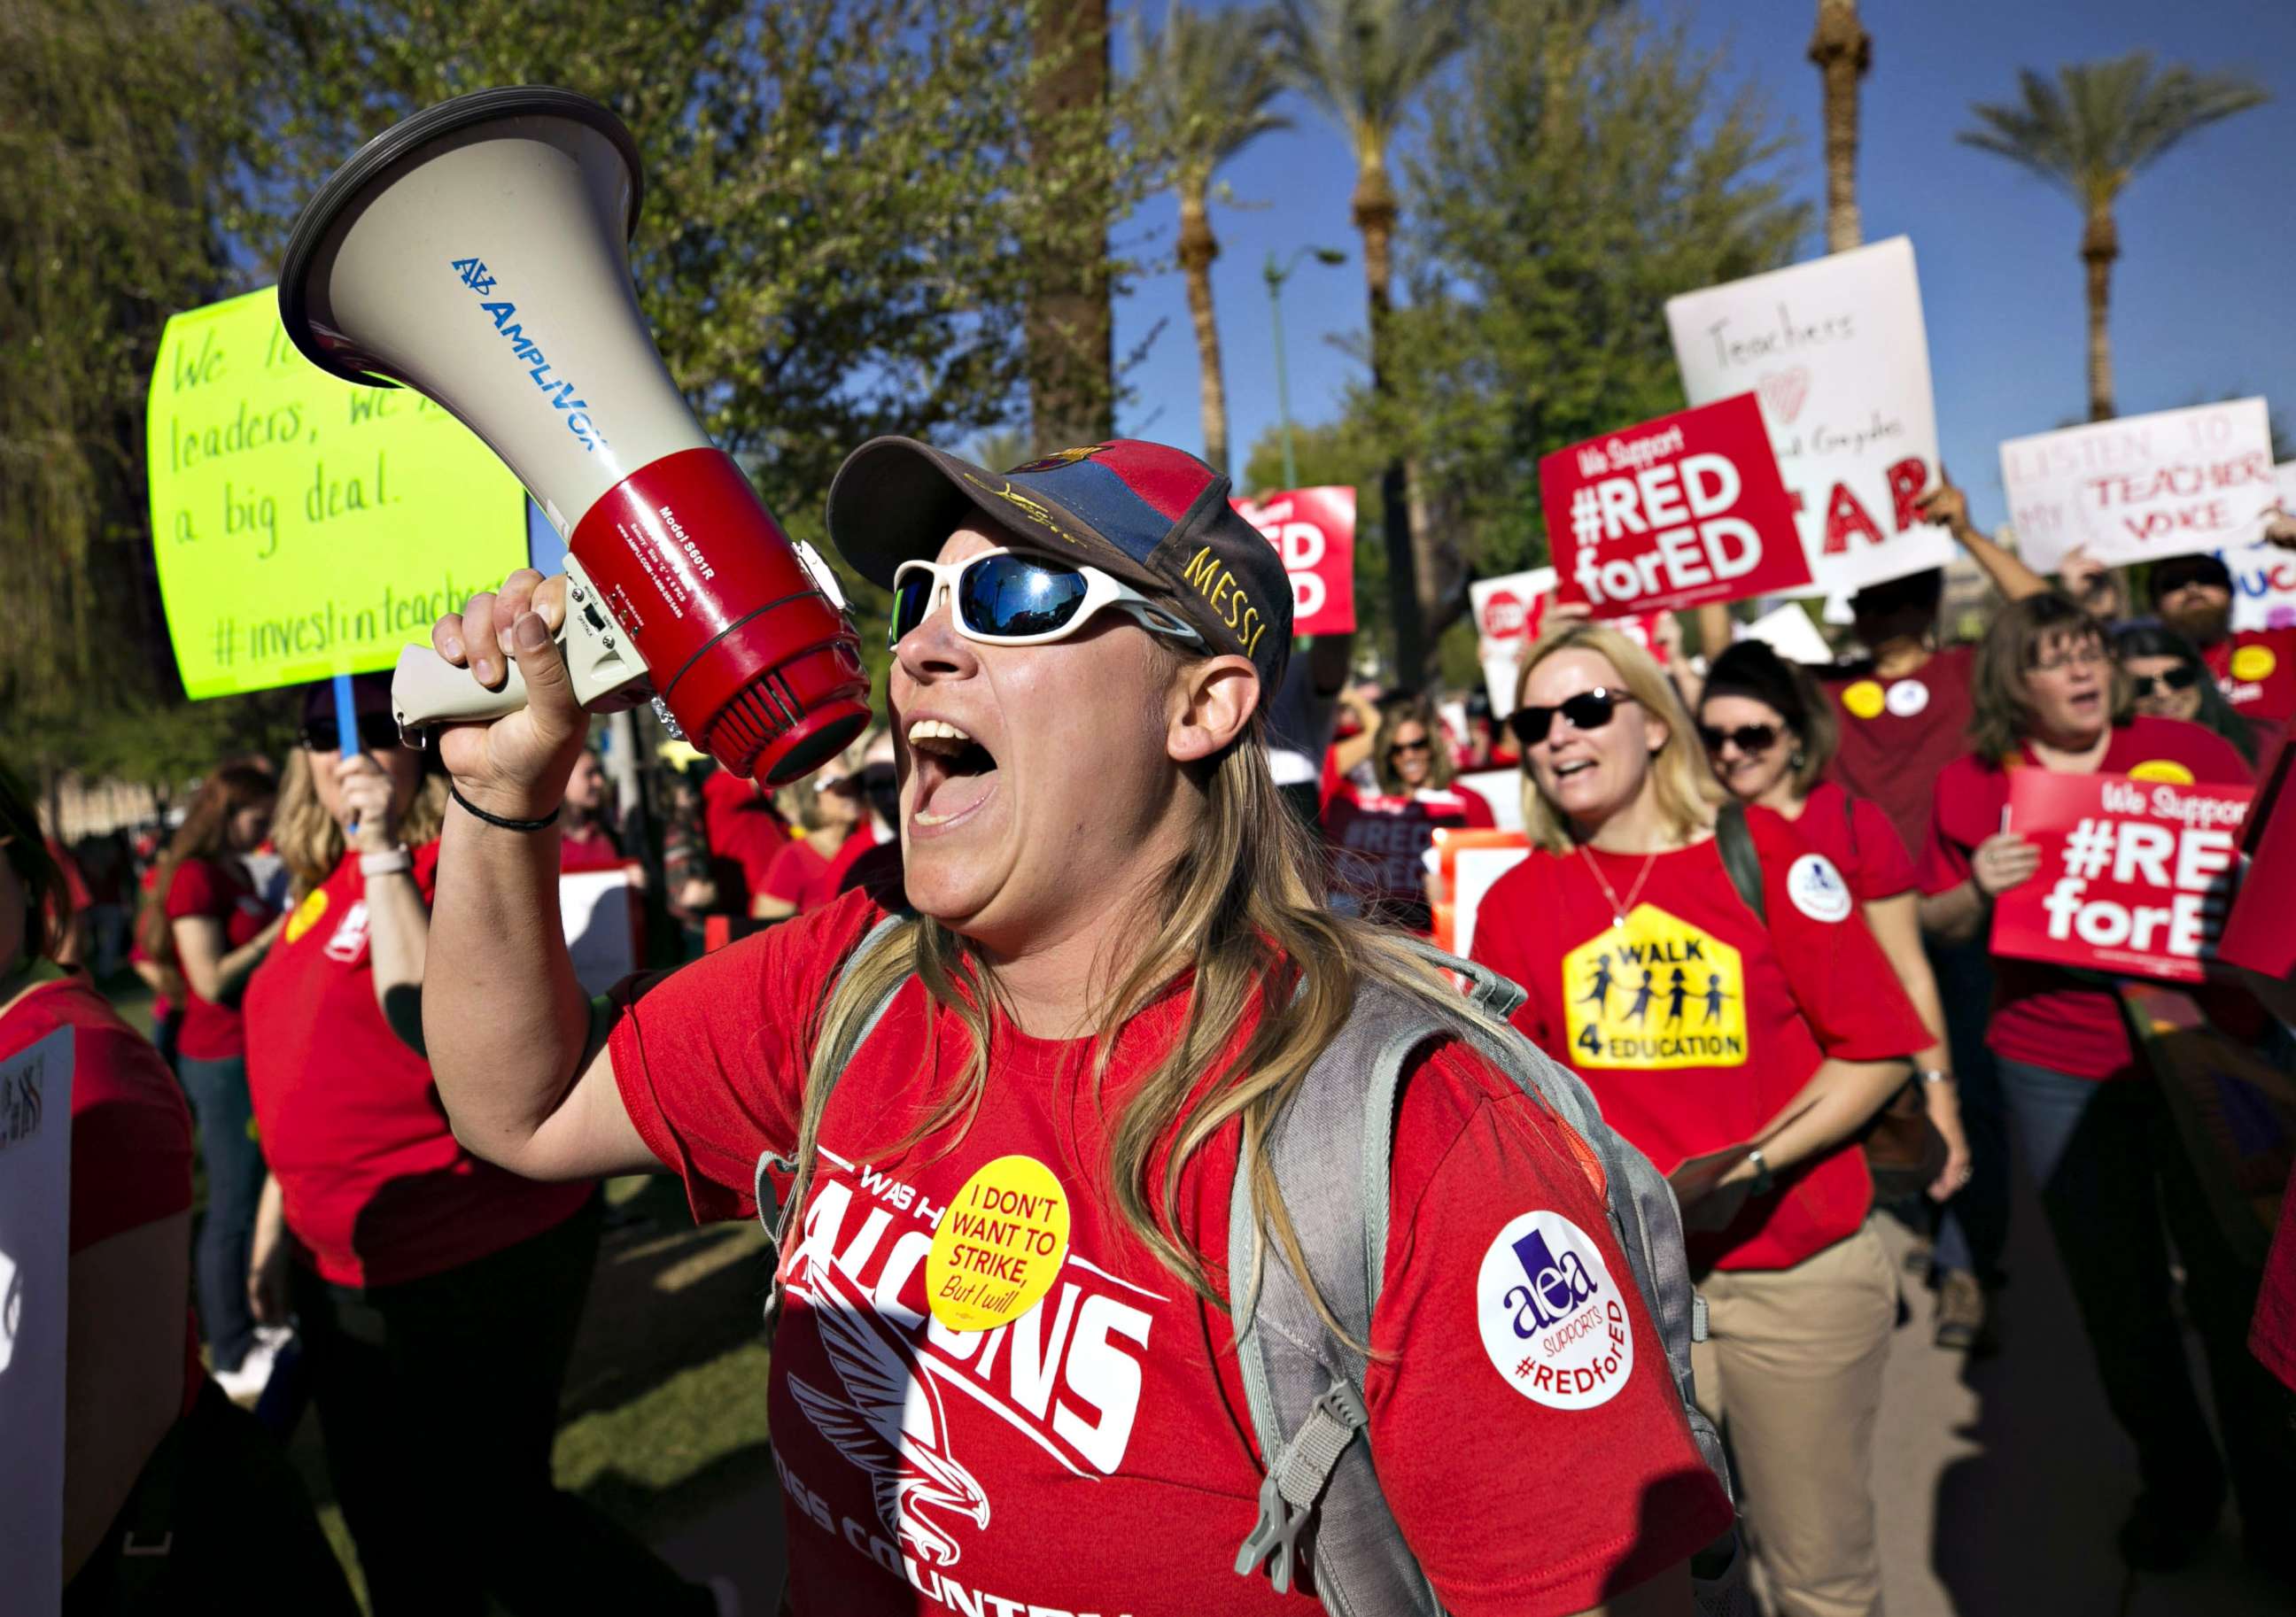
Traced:
[[1196, 322], [1196, 363], [1203, 388], [1203, 457], [1228, 471], [1228, 386], [1219, 368], [1219, 324], [1212, 319], [1212, 175], [1231, 156], [1290, 119], [1270, 110], [1283, 80], [1258, 11], [1189, 11], [1164, 7], [1164, 28], [1150, 37], [1141, 14], [1130, 16], [1132, 92], [1141, 136], [1169, 165], [1180, 195], [1180, 273], [1187, 312]]

